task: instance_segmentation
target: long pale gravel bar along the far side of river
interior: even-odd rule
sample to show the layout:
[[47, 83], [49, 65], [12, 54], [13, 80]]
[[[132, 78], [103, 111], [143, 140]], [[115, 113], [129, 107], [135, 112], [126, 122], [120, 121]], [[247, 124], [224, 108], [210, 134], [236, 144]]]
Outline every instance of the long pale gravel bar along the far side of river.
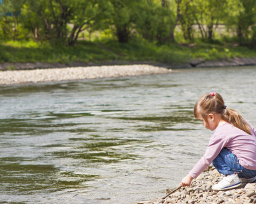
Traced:
[[165, 74], [171, 70], [152, 65], [114, 65], [67, 67], [37, 70], [0, 71], [0, 84], [69, 81], [81, 79], [113, 78], [150, 74]]

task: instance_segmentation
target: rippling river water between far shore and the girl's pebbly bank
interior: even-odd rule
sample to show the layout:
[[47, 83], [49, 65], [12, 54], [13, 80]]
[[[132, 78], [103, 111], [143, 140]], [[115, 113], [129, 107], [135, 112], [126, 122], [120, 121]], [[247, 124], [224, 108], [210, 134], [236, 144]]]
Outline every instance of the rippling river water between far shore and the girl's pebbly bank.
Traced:
[[217, 91], [256, 126], [256, 67], [0, 87], [0, 203], [132, 203], [180, 184]]

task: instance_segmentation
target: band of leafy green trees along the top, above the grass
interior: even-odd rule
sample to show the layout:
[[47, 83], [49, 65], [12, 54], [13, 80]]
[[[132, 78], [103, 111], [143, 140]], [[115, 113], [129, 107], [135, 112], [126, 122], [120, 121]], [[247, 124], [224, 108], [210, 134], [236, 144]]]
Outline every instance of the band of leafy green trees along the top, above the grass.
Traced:
[[[219, 33], [222, 25], [226, 31]], [[213, 43], [231, 36], [237, 37], [235, 43], [255, 47], [255, 27], [255, 0], [3, 0], [0, 4], [2, 40], [33, 39], [59, 46], [75, 46], [79, 38], [86, 34], [91, 39], [93, 33], [97, 39], [103, 35], [119, 43], [146, 39], [163, 46], [199, 38]]]

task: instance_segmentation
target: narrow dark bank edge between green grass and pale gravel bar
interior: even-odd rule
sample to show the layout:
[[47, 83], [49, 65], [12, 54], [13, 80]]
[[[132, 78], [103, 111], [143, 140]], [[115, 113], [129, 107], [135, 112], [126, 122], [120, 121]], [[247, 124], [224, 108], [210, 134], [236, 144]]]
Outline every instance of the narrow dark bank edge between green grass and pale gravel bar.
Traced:
[[27, 63], [0, 63], [0, 71], [6, 70], [35, 70], [35, 69], [51, 69], [66, 67], [87, 67], [87, 66], [111, 66], [111, 65], [135, 65], [147, 64], [153, 66], [164, 67], [166, 69], [189, 69], [203, 67], [223, 67], [223, 66], [251, 66], [256, 65], [256, 57], [234, 57], [229, 59], [220, 59], [213, 61], [205, 61], [203, 58], [190, 60], [189, 62], [179, 64], [167, 64], [153, 61], [109, 61], [109, 62], [70, 62], [62, 63], [44, 63], [44, 62], [27, 62]]

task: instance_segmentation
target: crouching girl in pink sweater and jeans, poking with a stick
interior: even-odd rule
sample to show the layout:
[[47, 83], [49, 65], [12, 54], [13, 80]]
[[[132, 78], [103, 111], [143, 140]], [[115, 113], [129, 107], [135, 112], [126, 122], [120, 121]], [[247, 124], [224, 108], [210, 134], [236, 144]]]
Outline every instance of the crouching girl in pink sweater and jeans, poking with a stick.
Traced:
[[256, 181], [256, 130], [234, 109], [225, 106], [222, 97], [212, 92], [203, 95], [194, 107], [195, 118], [205, 128], [215, 130], [204, 156], [185, 176], [182, 186], [201, 174], [211, 163], [225, 177], [212, 190], [226, 190]]

